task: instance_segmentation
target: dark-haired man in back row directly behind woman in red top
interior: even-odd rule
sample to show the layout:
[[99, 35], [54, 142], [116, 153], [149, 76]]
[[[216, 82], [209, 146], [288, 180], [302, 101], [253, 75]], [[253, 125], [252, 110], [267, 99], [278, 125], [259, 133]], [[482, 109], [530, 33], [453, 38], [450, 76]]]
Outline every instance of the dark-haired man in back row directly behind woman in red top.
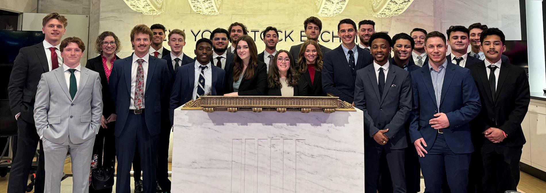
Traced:
[[[312, 39], [315, 42], [318, 42], [318, 37], [321, 36], [322, 31], [322, 21], [318, 19], [315, 16], [307, 17], [304, 21], [304, 27], [305, 27], [305, 37], [307, 39]], [[301, 43], [303, 44], [303, 43]], [[300, 48], [301, 44], [293, 45], [290, 47], [290, 55], [297, 57], [300, 54]], [[322, 54], [326, 54], [326, 52], [330, 51], [331, 49], [327, 48], [326, 46], [319, 45], [321, 47]], [[294, 62], [298, 62], [298, 58], [295, 58]]]

